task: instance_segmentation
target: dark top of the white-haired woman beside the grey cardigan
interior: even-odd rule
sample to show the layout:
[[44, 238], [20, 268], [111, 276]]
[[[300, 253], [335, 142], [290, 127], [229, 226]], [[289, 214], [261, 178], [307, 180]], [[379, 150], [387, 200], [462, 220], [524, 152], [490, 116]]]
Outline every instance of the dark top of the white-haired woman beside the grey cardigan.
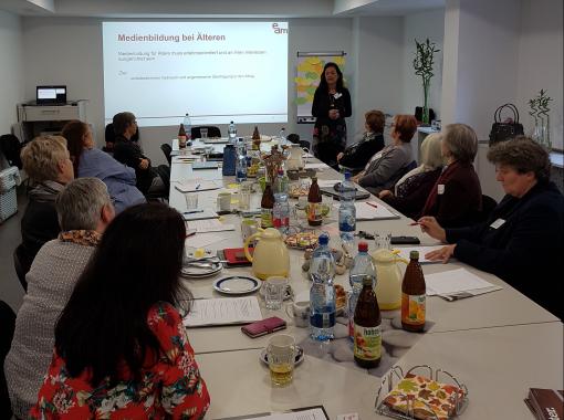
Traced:
[[383, 201], [408, 218], [416, 219], [421, 212], [427, 197], [429, 197], [429, 191], [435, 186], [441, 170], [442, 168], [437, 168], [407, 178], [401, 183], [401, 192], [398, 191], [397, 196], [384, 197]]

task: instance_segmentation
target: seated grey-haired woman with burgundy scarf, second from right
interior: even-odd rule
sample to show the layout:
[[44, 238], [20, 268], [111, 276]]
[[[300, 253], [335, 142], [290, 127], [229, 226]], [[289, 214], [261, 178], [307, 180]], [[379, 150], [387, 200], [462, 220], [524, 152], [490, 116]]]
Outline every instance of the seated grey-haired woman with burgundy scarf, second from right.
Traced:
[[478, 137], [466, 124], [449, 124], [442, 135], [445, 169], [432, 187], [420, 216], [434, 216], [446, 228], [477, 222], [482, 210], [482, 189], [472, 165]]

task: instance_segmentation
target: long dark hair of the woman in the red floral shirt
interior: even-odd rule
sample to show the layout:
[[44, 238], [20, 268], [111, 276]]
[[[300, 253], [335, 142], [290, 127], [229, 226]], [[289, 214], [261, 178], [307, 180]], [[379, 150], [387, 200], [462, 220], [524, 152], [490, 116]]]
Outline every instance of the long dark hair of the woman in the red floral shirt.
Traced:
[[185, 238], [182, 217], [160, 203], [130, 207], [109, 223], [55, 325], [70, 377], [90, 368], [92, 386], [115, 384], [125, 361], [138, 380], [146, 355], [158, 357], [147, 313], [157, 302], [188, 309], [191, 295], [178, 280]]

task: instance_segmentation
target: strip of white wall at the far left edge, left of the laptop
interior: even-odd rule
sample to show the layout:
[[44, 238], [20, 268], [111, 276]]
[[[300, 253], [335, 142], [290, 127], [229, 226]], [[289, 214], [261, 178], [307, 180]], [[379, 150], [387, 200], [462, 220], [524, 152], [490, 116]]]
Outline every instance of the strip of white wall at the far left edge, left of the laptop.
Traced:
[[0, 135], [18, 122], [17, 104], [23, 95], [22, 28], [18, 15], [0, 10]]

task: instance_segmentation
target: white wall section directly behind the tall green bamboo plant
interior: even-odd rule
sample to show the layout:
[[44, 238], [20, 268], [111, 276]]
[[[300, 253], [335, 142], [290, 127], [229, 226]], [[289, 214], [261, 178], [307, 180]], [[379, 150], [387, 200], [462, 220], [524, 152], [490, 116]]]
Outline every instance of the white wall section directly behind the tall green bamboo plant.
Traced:
[[445, 36], [445, 9], [414, 13], [405, 18], [403, 46], [403, 90], [401, 113], [415, 113], [416, 106], [422, 106], [421, 77], [415, 75], [415, 40], [424, 42], [427, 38], [437, 44], [440, 52], [435, 54], [435, 76], [431, 78], [429, 107], [440, 119], [440, 96], [442, 91], [442, 39]]

